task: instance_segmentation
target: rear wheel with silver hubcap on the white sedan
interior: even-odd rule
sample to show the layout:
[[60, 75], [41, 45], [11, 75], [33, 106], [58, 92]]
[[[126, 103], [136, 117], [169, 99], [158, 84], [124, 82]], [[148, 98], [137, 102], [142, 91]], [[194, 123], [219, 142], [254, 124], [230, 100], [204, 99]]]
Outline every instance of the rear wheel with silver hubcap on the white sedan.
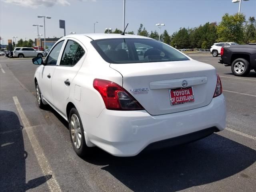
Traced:
[[84, 127], [80, 115], [76, 108], [72, 108], [68, 117], [68, 127], [72, 146], [76, 154], [80, 157], [88, 154], [89, 147], [84, 138]]

